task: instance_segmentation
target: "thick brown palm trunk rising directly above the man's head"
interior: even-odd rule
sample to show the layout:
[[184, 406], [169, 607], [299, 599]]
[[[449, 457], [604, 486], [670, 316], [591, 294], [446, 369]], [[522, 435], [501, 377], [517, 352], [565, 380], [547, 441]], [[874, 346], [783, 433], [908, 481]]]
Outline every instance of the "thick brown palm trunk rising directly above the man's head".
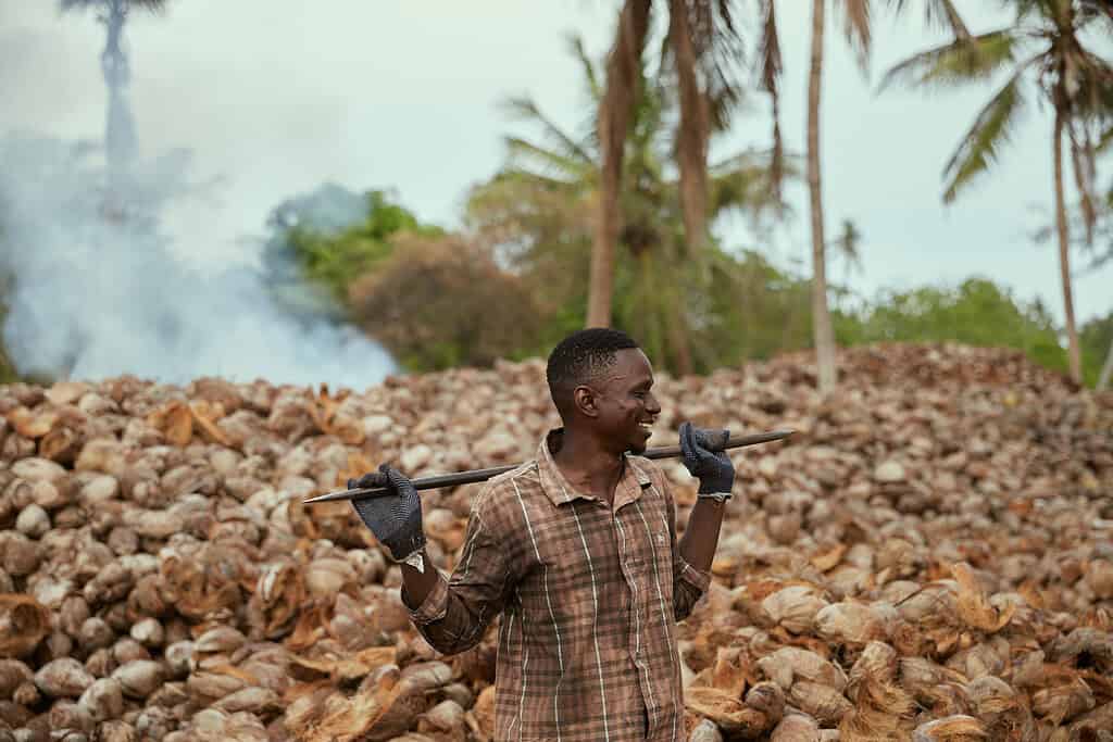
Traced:
[[599, 204], [591, 247], [588, 287], [588, 327], [611, 324], [614, 290], [614, 245], [619, 236], [619, 191], [622, 187], [622, 150], [630, 110], [637, 100], [641, 50], [649, 28], [651, 0], [627, 0], [607, 60], [607, 90], [599, 102]]

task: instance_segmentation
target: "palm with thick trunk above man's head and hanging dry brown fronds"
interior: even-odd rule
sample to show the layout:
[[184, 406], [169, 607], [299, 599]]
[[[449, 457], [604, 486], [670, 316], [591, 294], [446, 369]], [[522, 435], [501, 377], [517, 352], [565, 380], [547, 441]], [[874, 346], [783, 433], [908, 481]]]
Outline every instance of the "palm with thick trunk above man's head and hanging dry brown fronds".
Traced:
[[[614, 43], [607, 60], [603, 95], [597, 116], [600, 194], [591, 254], [588, 326], [611, 321], [614, 246], [619, 235], [618, 202], [622, 188], [622, 158], [631, 110], [639, 95], [641, 57], [651, 21], [652, 0], [626, 0], [619, 12]], [[776, 39], [774, 0], [759, 0], [762, 13], [761, 81], [775, 96], [774, 174], [781, 162], [780, 130], [776, 123], [776, 80], [780, 46]], [[689, 255], [698, 255], [707, 239], [708, 141], [726, 126], [740, 95], [737, 61], [741, 55], [732, 3], [729, 0], [668, 0], [669, 28], [662, 47], [679, 91], [680, 116], [676, 159], [680, 170], [680, 201]], [[775, 181], [779, 188], [779, 179]]]

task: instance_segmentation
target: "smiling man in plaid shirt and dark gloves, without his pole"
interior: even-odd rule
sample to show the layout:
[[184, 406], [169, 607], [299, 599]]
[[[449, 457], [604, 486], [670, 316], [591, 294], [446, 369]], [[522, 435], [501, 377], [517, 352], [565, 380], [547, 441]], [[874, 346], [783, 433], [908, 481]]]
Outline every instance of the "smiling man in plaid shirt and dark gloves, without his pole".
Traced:
[[733, 466], [681, 426], [700, 486], [678, 545], [669, 483], [637, 456], [661, 412], [646, 355], [587, 329], [553, 349], [546, 376], [564, 426], [475, 497], [451, 578], [430, 566], [421, 502], [396, 469], [380, 471], [398, 497], [356, 509], [402, 563], [402, 598], [437, 651], [474, 646], [503, 615], [496, 740], [680, 740], [676, 622], [710, 582]]

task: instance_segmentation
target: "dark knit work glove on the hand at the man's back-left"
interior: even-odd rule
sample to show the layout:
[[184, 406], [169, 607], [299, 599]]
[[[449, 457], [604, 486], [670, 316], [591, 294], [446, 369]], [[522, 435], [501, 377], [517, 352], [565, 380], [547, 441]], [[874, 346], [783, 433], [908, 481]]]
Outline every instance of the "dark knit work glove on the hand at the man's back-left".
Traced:
[[393, 495], [353, 499], [352, 505], [378, 543], [390, 550], [395, 562], [402, 562], [425, 547], [421, 498], [413, 482], [402, 472], [383, 464], [378, 472], [364, 474], [358, 479], [348, 479], [347, 484], [348, 489], [386, 486], [394, 491]]

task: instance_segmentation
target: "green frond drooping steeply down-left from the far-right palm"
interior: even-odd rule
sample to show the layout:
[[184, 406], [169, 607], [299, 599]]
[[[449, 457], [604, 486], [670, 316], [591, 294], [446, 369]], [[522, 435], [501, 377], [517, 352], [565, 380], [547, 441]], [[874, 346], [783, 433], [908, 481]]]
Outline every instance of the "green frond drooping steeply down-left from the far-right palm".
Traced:
[[963, 137], [962, 144], [947, 161], [943, 169], [943, 177], [949, 179], [943, 194], [945, 204], [954, 201], [964, 186], [987, 170], [996, 161], [1001, 146], [1009, 139], [1017, 116], [1025, 103], [1021, 85], [1026, 67], [1026, 65], [1021, 66], [1021, 69], [982, 109], [974, 119], [974, 125]]

